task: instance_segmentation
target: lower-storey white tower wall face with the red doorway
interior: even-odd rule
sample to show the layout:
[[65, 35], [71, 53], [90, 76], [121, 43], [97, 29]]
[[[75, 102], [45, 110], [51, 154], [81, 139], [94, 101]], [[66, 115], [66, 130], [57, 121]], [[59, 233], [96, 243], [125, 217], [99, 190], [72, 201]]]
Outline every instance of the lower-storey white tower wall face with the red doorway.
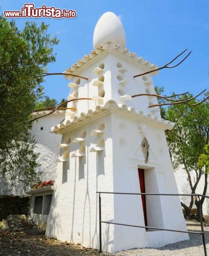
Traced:
[[[146, 193], [177, 193], [164, 131], [124, 114], [114, 114], [113, 120], [114, 191], [140, 193], [138, 168], [142, 168], [145, 169]], [[141, 148], [143, 137], [149, 142], [147, 164]], [[144, 226], [140, 196], [115, 195], [114, 203], [115, 222]], [[186, 230], [178, 197], [146, 196], [146, 208], [148, 226]], [[187, 238], [187, 234], [181, 236], [173, 232], [115, 226], [114, 239], [117, 251], [131, 247], [158, 247]]]

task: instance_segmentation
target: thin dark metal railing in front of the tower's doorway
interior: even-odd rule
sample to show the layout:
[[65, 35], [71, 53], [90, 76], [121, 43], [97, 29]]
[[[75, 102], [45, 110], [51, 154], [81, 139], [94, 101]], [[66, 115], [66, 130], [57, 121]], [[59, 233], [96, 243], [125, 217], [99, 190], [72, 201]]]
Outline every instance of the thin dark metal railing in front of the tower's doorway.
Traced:
[[[118, 193], [118, 192], [103, 192], [103, 191], [97, 191], [96, 193], [99, 194], [99, 251], [100, 252], [102, 251], [101, 250], [101, 223], [108, 223], [108, 224], [128, 226], [128, 227], [138, 227], [138, 228], [154, 229], [154, 230], [165, 230], [165, 231], [189, 233], [189, 234], [201, 234], [202, 235], [203, 248], [204, 248], [204, 255], [207, 256], [206, 244], [205, 244], [205, 235], [204, 235], [204, 227], [203, 227], [203, 215], [202, 215], [200, 197], [209, 198], [208, 196], [204, 196], [204, 195], [200, 195], [200, 194]], [[145, 195], [145, 196], [190, 196], [190, 197], [194, 196], [194, 197], [197, 197], [198, 198], [197, 209], [198, 209], [198, 214], [199, 214], [199, 219], [200, 219], [201, 232], [175, 230], [175, 229], [149, 227], [149, 226], [138, 226], [138, 225], [129, 225], [129, 224], [123, 224], [123, 223], [102, 221], [101, 220], [101, 194]]]

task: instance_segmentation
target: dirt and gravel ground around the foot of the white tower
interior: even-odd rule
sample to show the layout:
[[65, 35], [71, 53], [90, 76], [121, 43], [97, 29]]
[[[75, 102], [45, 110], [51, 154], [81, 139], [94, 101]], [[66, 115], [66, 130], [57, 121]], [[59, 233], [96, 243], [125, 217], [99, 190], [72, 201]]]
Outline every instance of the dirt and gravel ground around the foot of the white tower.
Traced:
[[[188, 230], [199, 231], [199, 224], [187, 222]], [[204, 227], [207, 252], [209, 255], [209, 225]], [[202, 237], [198, 234], [190, 234], [190, 240], [166, 245], [161, 248], [144, 248], [121, 251], [114, 254], [99, 253], [97, 250], [85, 248], [80, 245], [63, 243], [54, 239], [48, 239], [43, 232], [37, 233], [25, 229], [16, 232], [0, 232], [0, 255], [43, 255], [43, 256], [64, 256], [64, 255], [141, 255], [141, 256], [163, 256], [163, 255], [204, 255]]]

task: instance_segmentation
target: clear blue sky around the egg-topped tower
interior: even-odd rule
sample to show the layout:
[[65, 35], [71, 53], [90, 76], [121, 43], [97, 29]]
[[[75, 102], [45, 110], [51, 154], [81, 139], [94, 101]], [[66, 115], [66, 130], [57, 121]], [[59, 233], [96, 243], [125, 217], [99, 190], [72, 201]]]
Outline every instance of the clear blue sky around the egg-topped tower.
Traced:
[[[44, 21], [48, 32], [57, 35], [57, 60], [48, 65], [49, 72], [63, 72], [93, 49], [93, 32], [98, 18], [107, 11], [118, 15], [126, 32], [126, 48], [158, 66], [175, 57], [185, 48], [190, 57], [175, 69], [160, 71], [153, 77], [155, 85], [166, 93], [190, 91], [193, 94], [208, 89], [209, 67], [209, 1], [194, 0], [82, 0], [82, 1], [12, 1], [0, 0], [1, 12], [20, 10], [25, 3], [43, 4], [60, 9], [73, 9], [75, 19], [20, 18], [21, 29], [26, 20]], [[47, 77], [43, 83], [45, 94], [58, 101], [69, 94], [68, 82], [62, 76]]]

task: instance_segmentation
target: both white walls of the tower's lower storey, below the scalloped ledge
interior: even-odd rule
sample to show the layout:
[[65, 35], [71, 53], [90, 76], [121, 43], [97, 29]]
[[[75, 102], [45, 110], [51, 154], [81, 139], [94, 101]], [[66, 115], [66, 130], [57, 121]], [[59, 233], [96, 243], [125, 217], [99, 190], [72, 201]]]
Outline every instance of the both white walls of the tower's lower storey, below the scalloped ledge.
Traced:
[[[91, 131], [98, 130], [101, 123], [105, 124], [103, 135], [91, 136]], [[144, 132], [141, 132], [141, 125]], [[72, 141], [81, 137], [84, 131], [87, 134], [83, 142], [85, 156], [83, 159], [73, 158], [82, 144]], [[144, 136], [150, 144], [147, 164], [144, 163], [141, 150]], [[64, 154], [67, 161], [58, 164], [46, 236], [98, 248], [96, 191], [139, 193], [138, 167], [147, 172], [147, 192], [177, 193], [170, 156], [166, 152], [168, 148], [165, 133], [162, 130], [139, 123], [122, 113], [107, 113], [64, 133], [62, 143], [69, 142], [69, 138], [69, 151], [62, 149], [60, 152], [60, 157]], [[101, 139], [105, 140], [104, 151], [91, 152], [91, 148], [98, 146]], [[103, 221], [144, 226], [140, 196], [101, 197]], [[147, 203], [148, 225], [186, 230], [179, 198], [162, 196], [154, 200], [147, 199]], [[158, 247], [185, 239], [188, 239], [187, 234], [102, 224], [102, 250], [108, 252], [134, 247]]]

